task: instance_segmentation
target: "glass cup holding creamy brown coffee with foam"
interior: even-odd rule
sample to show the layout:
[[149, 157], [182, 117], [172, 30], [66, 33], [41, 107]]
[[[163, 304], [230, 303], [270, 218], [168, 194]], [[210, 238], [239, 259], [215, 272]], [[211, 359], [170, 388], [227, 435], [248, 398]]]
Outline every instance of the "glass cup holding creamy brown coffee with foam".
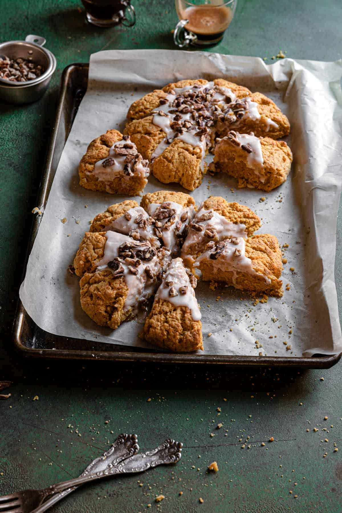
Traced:
[[188, 45], [214, 46], [224, 36], [237, 0], [175, 0], [179, 22], [173, 34], [180, 48]]

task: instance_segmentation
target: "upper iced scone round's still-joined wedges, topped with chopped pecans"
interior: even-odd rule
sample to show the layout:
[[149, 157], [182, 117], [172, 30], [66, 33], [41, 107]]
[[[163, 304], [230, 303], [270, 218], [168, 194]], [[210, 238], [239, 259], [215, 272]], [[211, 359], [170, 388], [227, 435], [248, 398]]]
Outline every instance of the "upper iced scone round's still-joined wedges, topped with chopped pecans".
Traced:
[[215, 135], [225, 135], [235, 125], [274, 139], [289, 133], [287, 117], [269, 98], [223, 79], [181, 81], [164, 92], [164, 97], [156, 90], [134, 102], [128, 113], [133, 121], [125, 128], [162, 183], [198, 187]]

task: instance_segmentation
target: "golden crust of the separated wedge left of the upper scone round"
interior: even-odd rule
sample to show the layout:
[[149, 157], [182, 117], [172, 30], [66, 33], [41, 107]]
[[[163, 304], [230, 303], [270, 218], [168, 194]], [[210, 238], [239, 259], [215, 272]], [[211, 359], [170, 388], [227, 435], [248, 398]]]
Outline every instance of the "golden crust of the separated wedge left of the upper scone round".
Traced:
[[[98, 177], [92, 174], [96, 162], [106, 159], [113, 144], [121, 141], [122, 138], [123, 135], [118, 130], [107, 130], [105, 134], [96, 137], [89, 144], [87, 152], [78, 166], [79, 185], [93, 191], [126, 194], [127, 196], [136, 196], [144, 189], [146, 178], [143, 176], [133, 176], [130, 180], [124, 180], [121, 176], [117, 176], [107, 183], [98, 180]], [[110, 190], [108, 185], [110, 185]]]

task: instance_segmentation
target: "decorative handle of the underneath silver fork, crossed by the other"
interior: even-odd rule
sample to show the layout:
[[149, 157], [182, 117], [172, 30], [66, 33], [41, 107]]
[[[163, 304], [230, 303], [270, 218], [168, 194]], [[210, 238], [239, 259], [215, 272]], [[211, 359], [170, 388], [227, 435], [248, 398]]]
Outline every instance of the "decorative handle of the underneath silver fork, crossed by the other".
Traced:
[[[111, 445], [108, 451], [104, 452], [104, 454], [94, 461], [92, 461], [87, 468], [82, 472], [81, 477], [92, 475], [94, 472], [104, 471], [106, 468], [112, 468], [114, 465], [117, 465], [120, 461], [125, 458], [129, 458], [130, 456], [135, 455], [139, 450], [139, 446], [137, 444], [137, 436], [136, 435], [126, 435], [123, 433], [119, 435], [115, 442]], [[43, 513], [48, 508], [53, 506], [56, 502], [64, 499], [67, 495], [71, 494], [74, 490], [76, 490], [77, 486], [68, 487], [58, 493], [52, 492], [54, 495], [43, 502], [49, 495], [51, 495], [50, 488], [43, 490], [42, 502], [41, 504], [35, 508], [31, 513]], [[45, 493], [44, 493], [45, 492]]]

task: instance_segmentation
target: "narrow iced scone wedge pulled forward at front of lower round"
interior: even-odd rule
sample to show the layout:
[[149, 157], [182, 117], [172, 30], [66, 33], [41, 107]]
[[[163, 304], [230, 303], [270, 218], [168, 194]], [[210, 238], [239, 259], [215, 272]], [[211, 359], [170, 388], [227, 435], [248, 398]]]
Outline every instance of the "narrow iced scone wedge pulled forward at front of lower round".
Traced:
[[189, 278], [182, 259], [172, 260], [145, 322], [147, 342], [175, 352], [203, 349], [201, 314], [194, 286], [196, 279], [193, 275]]

